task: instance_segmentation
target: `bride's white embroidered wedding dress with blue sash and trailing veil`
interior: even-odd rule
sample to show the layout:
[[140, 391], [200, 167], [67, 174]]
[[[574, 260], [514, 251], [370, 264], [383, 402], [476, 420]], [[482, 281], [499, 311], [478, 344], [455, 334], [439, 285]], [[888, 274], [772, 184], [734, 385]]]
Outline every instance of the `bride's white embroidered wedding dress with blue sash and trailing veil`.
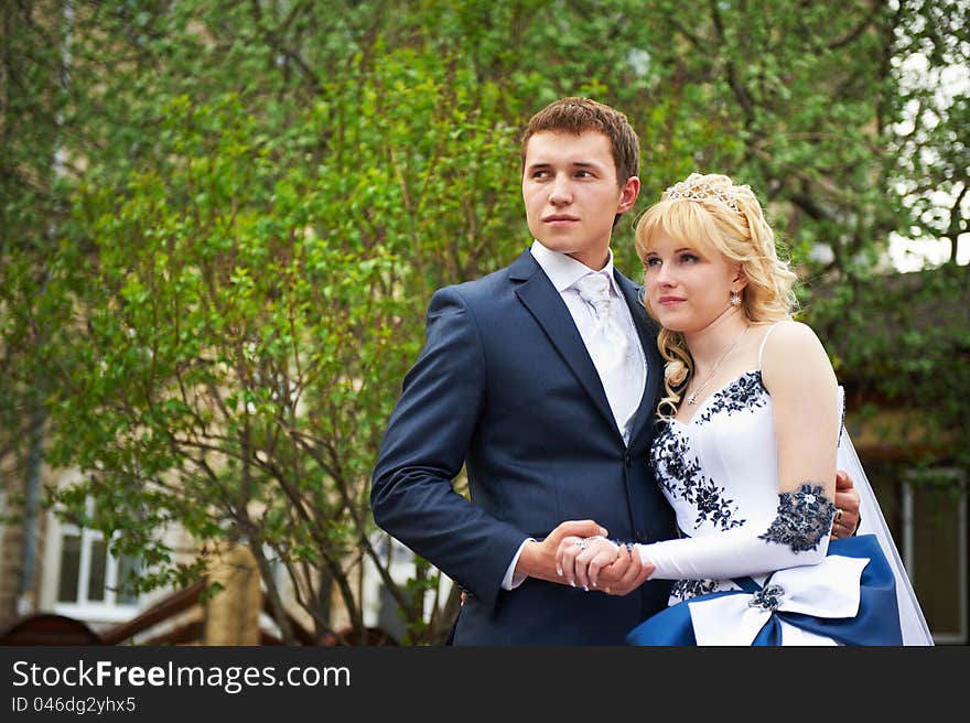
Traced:
[[[735, 530], [725, 538], [726, 544], [728, 539], [737, 539], [744, 530], [750, 530], [747, 537], [757, 539], [778, 515], [779, 505], [772, 398], [762, 384], [761, 371], [742, 374], [708, 397], [690, 422], [669, 421], [656, 436], [650, 458], [657, 483], [673, 508], [685, 537], [718, 536]], [[790, 566], [767, 574], [761, 571], [762, 574], [750, 578], [678, 580], [672, 586], [670, 605], [685, 604], [642, 624], [628, 641], [634, 645], [836, 645], [847, 641], [931, 645], [912, 585], [844, 430], [840, 433], [839, 468], [849, 472], [862, 499], [858, 539], [830, 543], [828, 557], [818, 564]], [[667, 550], [677, 554], [676, 547], [659, 544], [667, 544]], [[855, 551], [844, 552], [849, 548]], [[642, 553], [649, 559], [649, 547]], [[740, 554], [743, 555], [743, 551]], [[735, 570], [743, 569], [745, 558], [739, 558], [732, 565]], [[882, 582], [874, 582], [872, 576], [881, 570], [885, 573]], [[861, 582], [867, 585], [864, 595]], [[867, 596], [874, 585], [882, 585], [882, 591]], [[892, 604], [894, 585], [896, 605]], [[898, 612], [887, 612], [896, 606]], [[856, 627], [865, 630], [844, 635], [840, 632], [839, 626], [845, 621], [862, 616], [864, 621], [856, 621]], [[885, 616], [890, 619], [880, 619]], [[676, 624], [675, 618], [679, 621]], [[897, 618], [894, 635], [899, 635], [902, 629], [899, 643], [895, 643], [893, 635], [886, 637], [879, 632], [885, 629], [884, 626], [896, 626]], [[678, 625], [690, 628], [682, 630], [687, 637], [671, 633]], [[768, 635], [768, 627], [773, 628], [774, 637]], [[876, 633], [870, 636], [872, 632]], [[761, 641], [756, 643], [758, 635]], [[769, 637], [773, 641], [765, 643]]]

